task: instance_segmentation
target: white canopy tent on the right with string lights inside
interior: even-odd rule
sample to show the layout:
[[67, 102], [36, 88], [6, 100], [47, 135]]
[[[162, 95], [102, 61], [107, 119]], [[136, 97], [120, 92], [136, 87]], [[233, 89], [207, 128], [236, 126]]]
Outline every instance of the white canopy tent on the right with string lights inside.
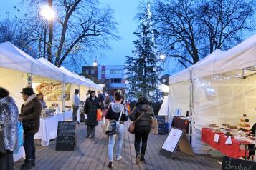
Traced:
[[[237, 125], [242, 114], [255, 123], [256, 35], [228, 51], [214, 51], [169, 77], [169, 116], [190, 110], [194, 151], [202, 152], [201, 128], [212, 123]], [[170, 123], [170, 122], [169, 122]]]

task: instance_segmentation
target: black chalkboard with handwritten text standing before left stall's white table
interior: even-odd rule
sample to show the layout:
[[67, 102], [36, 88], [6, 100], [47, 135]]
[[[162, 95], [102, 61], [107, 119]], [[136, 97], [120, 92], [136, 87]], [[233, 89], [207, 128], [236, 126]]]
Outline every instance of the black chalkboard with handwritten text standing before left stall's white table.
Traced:
[[76, 121], [59, 121], [57, 129], [57, 151], [73, 151], [76, 146]]

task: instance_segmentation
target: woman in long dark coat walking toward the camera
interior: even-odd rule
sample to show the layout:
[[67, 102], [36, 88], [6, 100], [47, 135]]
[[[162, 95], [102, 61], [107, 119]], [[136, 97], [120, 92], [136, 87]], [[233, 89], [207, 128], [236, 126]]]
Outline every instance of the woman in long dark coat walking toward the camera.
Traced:
[[98, 125], [97, 109], [100, 108], [99, 101], [95, 96], [95, 91], [90, 91], [90, 97], [86, 99], [84, 111], [87, 114], [85, 124], [87, 125], [87, 138], [91, 135], [95, 138], [95, 126]]

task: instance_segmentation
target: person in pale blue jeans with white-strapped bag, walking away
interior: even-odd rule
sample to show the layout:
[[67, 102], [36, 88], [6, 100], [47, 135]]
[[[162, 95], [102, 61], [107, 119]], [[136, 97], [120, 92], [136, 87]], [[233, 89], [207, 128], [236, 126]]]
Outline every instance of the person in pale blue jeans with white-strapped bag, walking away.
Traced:
[[106, 119], [118, 121], [118, 130], [116, 135], [110, 135], [108, 140], [108, 167], [113, 166], [113, 150], [115, 146], [115, 136], [118, 136], [117, 140], [117, 151], [115, 154], [115, 160], [120, 161], [122, 159], [121, 151], [123, 145], [123, 134], [124, 134], [124, 122], [128, 120], [128, 114], [125, 114], [125, 107], [121, 104], [122, 96], [119, 92], [115, 92], [115, 103], [111, 104], [108, 108]]

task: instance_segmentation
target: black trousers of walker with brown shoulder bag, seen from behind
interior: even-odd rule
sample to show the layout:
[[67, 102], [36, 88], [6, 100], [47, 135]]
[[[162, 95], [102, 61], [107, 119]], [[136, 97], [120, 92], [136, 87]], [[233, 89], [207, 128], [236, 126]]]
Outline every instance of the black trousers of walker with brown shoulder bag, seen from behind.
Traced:
[[[135, 148], [136, 157], [139, 154], [141, 154], [141, 156], [145, 155], [147, 142], [148, 142], [148, 135], [150, 131], [151, 129], [143, 130], [143, 131], [135, 131], [134, 148]], [[141, 140], [142, 140], [142, 144], [141, 144]]]

